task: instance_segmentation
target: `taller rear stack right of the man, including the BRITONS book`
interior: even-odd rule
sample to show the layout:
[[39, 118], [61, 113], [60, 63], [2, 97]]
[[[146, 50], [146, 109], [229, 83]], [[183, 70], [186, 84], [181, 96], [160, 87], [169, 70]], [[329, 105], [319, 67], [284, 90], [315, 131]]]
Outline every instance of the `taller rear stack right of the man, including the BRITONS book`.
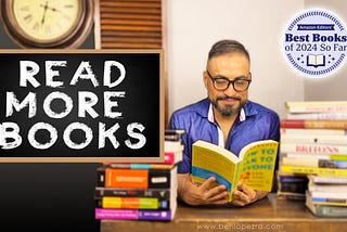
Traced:
[[292, 101], [281, 120], [278, 195], [306, 199], [308, 175], [347, 176], [347, 101]]

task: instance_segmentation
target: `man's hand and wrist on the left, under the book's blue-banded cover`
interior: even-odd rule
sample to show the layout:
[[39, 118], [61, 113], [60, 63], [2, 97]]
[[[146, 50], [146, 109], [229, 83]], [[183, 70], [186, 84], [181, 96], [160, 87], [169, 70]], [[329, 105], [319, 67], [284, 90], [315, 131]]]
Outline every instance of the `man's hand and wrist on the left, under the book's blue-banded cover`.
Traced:
[[178, 173], [178, 197], [189, 205], [227, 204], [227, 186], [215, 185], [216, 178], [214, 177], [209, 178], [201, 185], [196, 185], [192, 182], [189, 173]]

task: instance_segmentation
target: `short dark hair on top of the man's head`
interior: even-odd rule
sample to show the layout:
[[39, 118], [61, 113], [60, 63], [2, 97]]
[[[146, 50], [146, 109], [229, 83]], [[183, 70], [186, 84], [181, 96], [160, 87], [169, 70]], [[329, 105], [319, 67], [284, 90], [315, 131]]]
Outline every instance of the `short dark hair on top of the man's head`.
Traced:
[[246, 55], [248, 61], [250, 61], [249, 53], [246, 48], [241, 42], [231, 39], [224, 39], [216, 42], [209, 50], [208, 60], [228, 53], [242, 53]]

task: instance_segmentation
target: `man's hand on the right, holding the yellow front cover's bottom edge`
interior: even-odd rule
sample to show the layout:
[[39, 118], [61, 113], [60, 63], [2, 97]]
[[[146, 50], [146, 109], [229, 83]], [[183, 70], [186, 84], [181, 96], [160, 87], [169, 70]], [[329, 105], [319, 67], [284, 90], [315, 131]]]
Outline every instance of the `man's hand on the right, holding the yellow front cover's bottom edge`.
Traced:
[[258, 199], [266, 197], [269, 192], [255, 191], [247, 186], [246, 184], [239, 182], [237, 189], [233, 192], [232, 205], [245, 206], [249, 205]]

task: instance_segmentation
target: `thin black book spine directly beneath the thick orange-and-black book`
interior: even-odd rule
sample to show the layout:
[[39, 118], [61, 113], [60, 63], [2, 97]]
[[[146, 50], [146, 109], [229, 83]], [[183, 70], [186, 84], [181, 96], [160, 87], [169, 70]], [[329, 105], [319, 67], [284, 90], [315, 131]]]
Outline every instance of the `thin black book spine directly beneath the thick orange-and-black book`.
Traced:
[[102, 196], [138, 196], [170, 198], [170, 189], [125, 189], [125, 188], [95, 188], [95, 197]]

